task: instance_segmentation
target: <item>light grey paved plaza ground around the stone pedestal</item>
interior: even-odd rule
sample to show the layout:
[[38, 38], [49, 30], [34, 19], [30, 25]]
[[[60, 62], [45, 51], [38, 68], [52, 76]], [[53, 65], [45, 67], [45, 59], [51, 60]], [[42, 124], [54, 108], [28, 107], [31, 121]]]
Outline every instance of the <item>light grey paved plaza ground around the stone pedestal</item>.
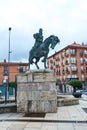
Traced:
[[[87, 130], [87, 96], [78, 105], [58, 107], [44, 118], [23, 117], [22, 113], [0, 114], [0, 130]], [[86, 109], [87, 110], [87, 109]]]

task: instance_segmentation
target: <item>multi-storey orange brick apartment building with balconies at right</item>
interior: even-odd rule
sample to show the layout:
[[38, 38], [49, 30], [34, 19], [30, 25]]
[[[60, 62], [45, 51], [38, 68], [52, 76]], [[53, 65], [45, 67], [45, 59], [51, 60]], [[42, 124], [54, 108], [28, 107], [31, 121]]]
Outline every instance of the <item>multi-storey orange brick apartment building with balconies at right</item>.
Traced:
[[57, 79], [87, 81], [87, 45], [73, 43], [48, 57], [48, 67]]

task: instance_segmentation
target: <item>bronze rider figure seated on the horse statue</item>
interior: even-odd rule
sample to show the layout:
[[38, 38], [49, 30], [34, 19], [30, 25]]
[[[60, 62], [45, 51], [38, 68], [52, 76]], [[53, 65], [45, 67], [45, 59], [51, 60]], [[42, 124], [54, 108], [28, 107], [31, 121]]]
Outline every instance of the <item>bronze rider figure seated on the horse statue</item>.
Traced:
[[33, 49], [37, 49], [40, 46], [40, 44], [43, 42], [43, 30], [42, 30], [42, 28], [39, 29], [39, 33], [33, 34], [33, 37], [35, 39], [35, 44], [34, 44]]

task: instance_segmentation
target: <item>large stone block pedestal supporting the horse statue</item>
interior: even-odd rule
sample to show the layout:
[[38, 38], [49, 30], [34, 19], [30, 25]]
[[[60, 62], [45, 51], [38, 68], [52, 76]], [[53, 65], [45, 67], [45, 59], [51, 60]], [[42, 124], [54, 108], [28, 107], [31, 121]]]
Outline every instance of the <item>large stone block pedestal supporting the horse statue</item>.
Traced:
[[17, 75], [18, 112], [56, 112], [56, 78], [50, 70], [34, 70]]

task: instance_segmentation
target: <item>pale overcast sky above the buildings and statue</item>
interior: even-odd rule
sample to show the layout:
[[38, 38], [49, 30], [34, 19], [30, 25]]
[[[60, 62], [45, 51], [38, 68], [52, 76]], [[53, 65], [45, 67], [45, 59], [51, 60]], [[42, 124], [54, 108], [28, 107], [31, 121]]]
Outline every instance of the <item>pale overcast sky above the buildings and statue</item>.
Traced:
[[87, 0], [0, 0], [0, 61], [8, 60], [11, 27], [11, 61], [28, 61], [33, 34], [43, 28], [44, 39], [54, 34], [60, 44], [87, 43]]

